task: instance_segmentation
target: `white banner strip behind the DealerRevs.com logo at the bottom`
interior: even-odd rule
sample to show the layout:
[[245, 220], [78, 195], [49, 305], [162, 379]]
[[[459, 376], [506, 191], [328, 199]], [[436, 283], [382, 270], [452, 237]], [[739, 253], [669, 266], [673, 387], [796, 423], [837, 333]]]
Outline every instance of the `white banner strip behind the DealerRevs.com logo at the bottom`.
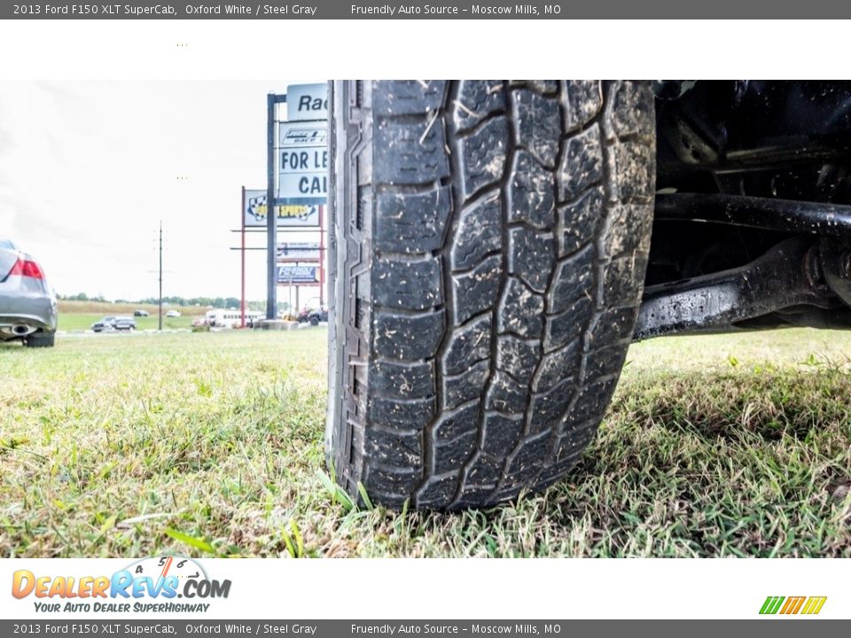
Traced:
[[[66, 619], [71, 613], [61, 611], [66, 603], [100, 601], [129, 603], [129, 612], [99, 612], [111, 618], [186, 615], [185, 610], [159, 616], [133, 611], [153, 609], [134, 608], [135, 603], [172, 603], [209, 605], [191, 612], [199, 619], [758, 619], [766, 618], [760, 610], [768, 596], [826, 596], [818, 618], [851, 618], [847, 559], [195, 559], [209, 584], [196, 583], [186, 595], [171, 598], [150, 594], [156, 579], [134, 585], [139, 595], [129, 598], [63, 597], [57, 585], [59, 577], [66, 583], [73, 578], [72, 594], [87, 577], [106, 577], [121, 586], [114, 575], [134, 564], [5, 559], [0, 614]], [[48, 579], [42, 583], [45, 591], [57, 587], [56, 593], [14, 597], [14, 575], [22, 571]], [[185, 577], [178, 578], [178, 594]], [[225, 581], [230, 581], [226, 597], [221, 595]], [[212, 595], [216, 590], [220, 595]], [[36, 611], [38, 603], [58, 603], [60, 611]]]

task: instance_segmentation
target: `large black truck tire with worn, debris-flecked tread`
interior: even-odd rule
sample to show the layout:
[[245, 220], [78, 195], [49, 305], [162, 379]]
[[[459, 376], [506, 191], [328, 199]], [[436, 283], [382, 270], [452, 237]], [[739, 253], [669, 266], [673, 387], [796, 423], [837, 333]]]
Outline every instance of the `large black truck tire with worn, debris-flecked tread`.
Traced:
[[[565, 475], [632, 338], [646, 82], [333, 82], [329, 463], [399, 508]], [[360, 485], [359, 485], [360, 484]]]

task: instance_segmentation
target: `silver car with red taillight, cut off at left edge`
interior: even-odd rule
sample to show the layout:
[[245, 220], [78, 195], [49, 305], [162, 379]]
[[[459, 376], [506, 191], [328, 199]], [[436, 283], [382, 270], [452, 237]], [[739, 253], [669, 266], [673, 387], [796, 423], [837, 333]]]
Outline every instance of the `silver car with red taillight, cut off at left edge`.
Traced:
[[56, 335], [56, 293], [35, 259], [0, 239], [0, 341], [50, 347]]

